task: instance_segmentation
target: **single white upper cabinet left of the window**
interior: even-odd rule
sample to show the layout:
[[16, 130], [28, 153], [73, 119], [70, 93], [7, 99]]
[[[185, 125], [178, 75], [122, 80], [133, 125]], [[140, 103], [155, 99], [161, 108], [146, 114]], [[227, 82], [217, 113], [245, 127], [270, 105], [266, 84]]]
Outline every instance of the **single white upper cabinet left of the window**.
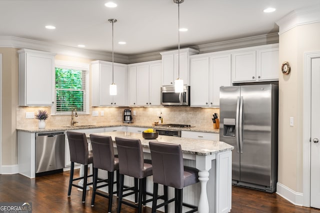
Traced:
[[55, 53], [20, 49], [19, 99], [20, 106], [54, 104]]

